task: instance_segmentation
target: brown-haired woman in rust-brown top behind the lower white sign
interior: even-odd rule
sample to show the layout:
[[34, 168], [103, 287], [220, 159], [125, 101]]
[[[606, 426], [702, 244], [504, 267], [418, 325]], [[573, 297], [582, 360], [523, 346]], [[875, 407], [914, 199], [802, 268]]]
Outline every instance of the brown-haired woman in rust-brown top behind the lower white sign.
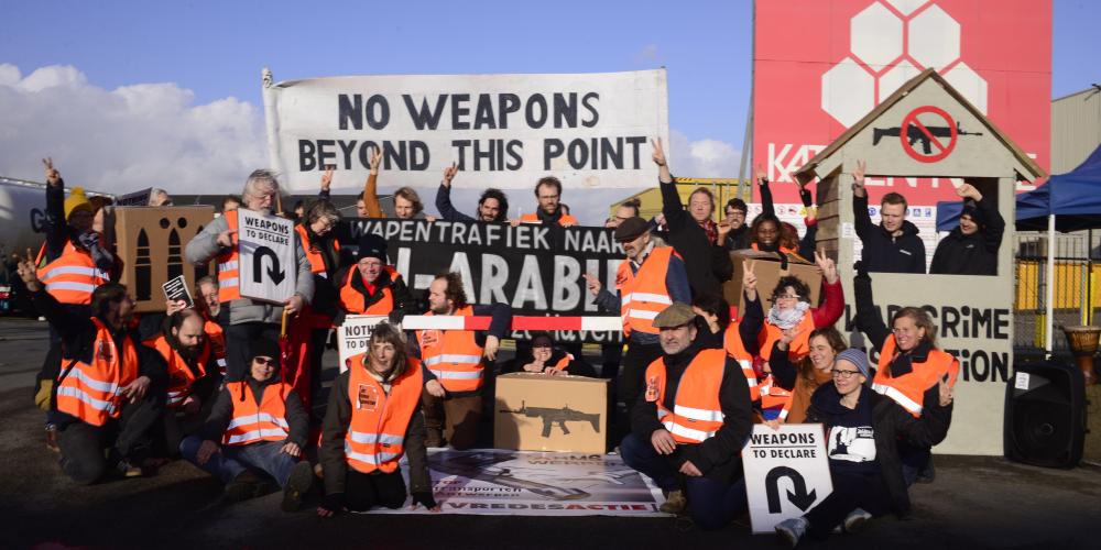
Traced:
[[781, 353], [772, 354], [768, 366], [772, 370], [774, 384], [792, 393], [791, 399], [781, 413], [784, 421], [804, 424], [807, 408], [810, 406], [810, 395], [818, 389], [818, 386], [831, 380], [830, 371], [833, 369], [835, 358], [849, 345], [844, 342], [844, 337], [832, 326], [815, 329], [808, 339], [809, 353], [793, 363], [787, 353], [784, 353], [791, 345], [793, 334], [793, 331], [787, 331], [777, 340], [775, 350]]

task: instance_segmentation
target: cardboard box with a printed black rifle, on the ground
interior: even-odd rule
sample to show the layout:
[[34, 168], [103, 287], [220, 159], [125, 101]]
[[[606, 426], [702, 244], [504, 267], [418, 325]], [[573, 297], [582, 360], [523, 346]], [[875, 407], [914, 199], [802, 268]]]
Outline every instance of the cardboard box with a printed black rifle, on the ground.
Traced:
[[608, 381], [511, 373], [497, 378], [493, 447], [603, 454]]

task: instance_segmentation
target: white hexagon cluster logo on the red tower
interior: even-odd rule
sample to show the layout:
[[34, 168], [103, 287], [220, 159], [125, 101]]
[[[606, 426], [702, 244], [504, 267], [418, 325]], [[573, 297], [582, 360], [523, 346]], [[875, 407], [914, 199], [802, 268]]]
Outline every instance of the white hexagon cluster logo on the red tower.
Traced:
[[852, 125], [928, 67], [986, 112], [986, 81], [960, 61], [962, 29], [935, 1], [869, 2], [853, 15], [849, 31], [850, 54], [827, 70], [821, 82], [822, 110], [841, 124]]

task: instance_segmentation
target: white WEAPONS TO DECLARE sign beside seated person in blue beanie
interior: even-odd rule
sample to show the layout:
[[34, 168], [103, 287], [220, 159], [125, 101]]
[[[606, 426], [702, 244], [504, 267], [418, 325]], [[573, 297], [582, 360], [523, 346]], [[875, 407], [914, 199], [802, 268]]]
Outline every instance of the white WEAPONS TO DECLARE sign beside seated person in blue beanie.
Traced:
[[802, 516], [833, 492], [820, 424], [757, 424], [742, 449], [753, 532]]

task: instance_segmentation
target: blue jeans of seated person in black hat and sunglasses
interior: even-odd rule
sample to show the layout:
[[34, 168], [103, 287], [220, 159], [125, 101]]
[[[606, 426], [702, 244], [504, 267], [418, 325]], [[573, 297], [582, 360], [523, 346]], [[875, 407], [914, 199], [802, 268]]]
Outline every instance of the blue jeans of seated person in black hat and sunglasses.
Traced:
[[195, 455], [201, 444], [201, 438], [187, 437], [179, 443], [179, 454], [192, 464], [217, 476], [222, 483], [233, 481], [251, 466], [268, 472], [279, 486], [283, 487], [291, 479], [291, 470], [298, 463], [298, 459], [281, 451], [285, 442], [260, 441], [244, 446], [220, 446], [219, 451], [211, 454], [206, 464], [199, 464]]

